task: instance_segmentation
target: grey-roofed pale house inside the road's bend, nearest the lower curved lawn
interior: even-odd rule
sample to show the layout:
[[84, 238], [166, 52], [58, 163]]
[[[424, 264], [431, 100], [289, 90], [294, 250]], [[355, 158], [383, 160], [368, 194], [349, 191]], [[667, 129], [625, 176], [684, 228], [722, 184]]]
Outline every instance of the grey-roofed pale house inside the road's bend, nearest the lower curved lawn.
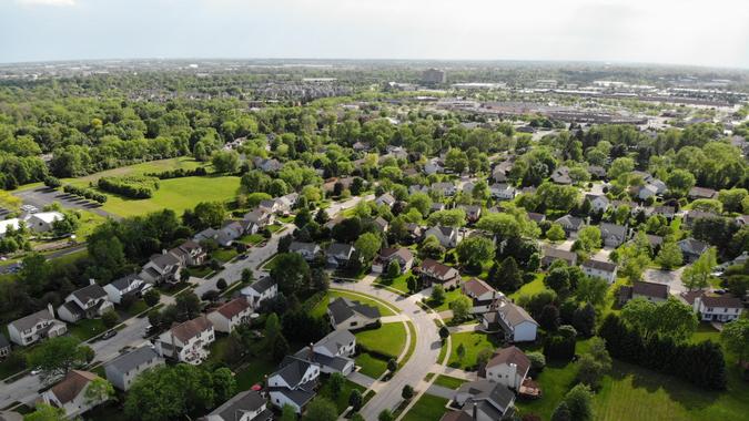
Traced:
[[302, 348], [294, 357], [307, 359], [320, 366], [324, 373], [340, 372], [348, 376], [356, 368], [352, 356], [356, 353], [356, 337], [347, 329], [337, 329], [310, 347]]

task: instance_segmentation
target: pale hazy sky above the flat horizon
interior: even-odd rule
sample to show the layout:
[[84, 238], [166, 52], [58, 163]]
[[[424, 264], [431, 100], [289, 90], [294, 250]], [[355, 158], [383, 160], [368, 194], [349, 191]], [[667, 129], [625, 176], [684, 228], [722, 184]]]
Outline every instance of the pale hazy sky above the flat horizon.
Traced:
[[555, 60], [749, 69], [749, 0], [0, 0], [0, 62]]

